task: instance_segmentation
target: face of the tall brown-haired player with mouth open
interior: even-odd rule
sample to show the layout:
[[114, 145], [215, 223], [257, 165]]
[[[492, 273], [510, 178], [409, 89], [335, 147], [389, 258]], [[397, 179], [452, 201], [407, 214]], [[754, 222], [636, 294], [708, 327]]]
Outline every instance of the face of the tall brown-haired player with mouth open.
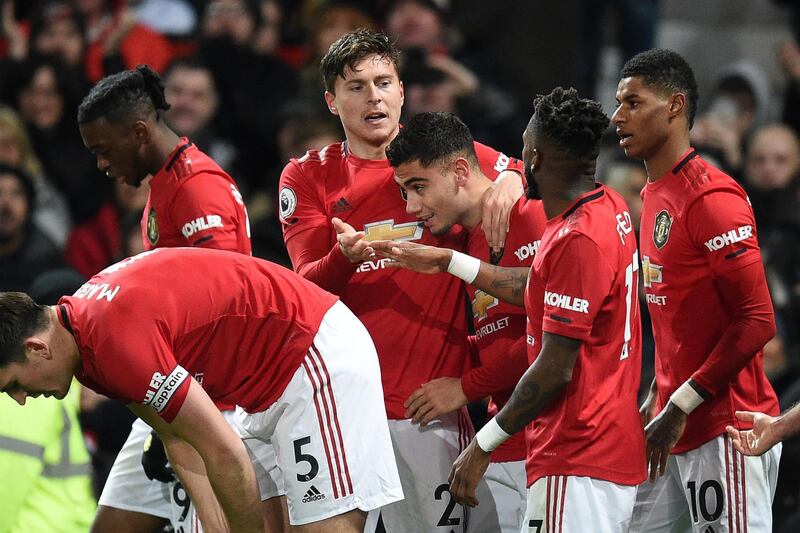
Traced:
[[367, 56], [336, 78], [335, 94], [325, 101], [337, 115], [348, 141], [370, 146], [388, 144], [397, 135], [403, 107], [403, 84], [389, 59]]

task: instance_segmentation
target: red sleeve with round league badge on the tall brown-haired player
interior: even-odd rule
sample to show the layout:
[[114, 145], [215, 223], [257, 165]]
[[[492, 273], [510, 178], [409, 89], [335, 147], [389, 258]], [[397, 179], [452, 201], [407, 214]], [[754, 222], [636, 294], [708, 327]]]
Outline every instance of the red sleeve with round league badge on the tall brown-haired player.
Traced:
[[280, 180], [280, 221], [283, 240], [294, 270], [323, 289], [338, 294], [358, 268], [338, 245], [313, 180], [296, 161], [283, 169]]

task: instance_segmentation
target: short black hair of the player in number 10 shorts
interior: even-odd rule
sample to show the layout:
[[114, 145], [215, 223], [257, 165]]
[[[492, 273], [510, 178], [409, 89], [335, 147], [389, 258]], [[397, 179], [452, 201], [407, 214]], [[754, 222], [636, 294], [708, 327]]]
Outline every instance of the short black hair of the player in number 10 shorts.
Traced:
[[622, 67], [621, 77], [639, 76], [645, 85], [664, 94], [683, 93], [686, 95], [686, 117], [689, 128], [694, 125], [697, 112], [697, 81], [689, 63], [677, 52], [664, 48], [653, 48], [636, 54]]

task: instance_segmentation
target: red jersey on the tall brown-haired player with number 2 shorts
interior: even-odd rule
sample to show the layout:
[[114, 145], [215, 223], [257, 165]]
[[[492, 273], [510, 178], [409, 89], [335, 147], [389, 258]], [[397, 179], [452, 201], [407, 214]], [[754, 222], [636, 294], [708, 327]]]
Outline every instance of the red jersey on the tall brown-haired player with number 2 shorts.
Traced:
[[[509, 166], [495, 150], [475, 145], [484, 173], [496, 177]], [[283, 236], [295, 270], [325, 257], [338, 261], [338, 273], [317, 280], [364, 323], [381, 364], [386, 411], [405, 418], [403, 403], [423, 383], [458, 377], [467, 350], [467, 316], [462, 282], [449, 274], [417, 274], [386, 266], [386, 259], [352, 265], [339, 252], [331, 219], [338, 217], [366, 239], [415, 241], [464, 250], [466, 232], [454, 229], [436, 238], [406, 213], [389, 161], [366, 160], [335, 143], [292, 159], [281, 174], [280, 216]], [[338, 254], [338, 255], [337, 255]], [[344, 272], [344, 275], [341, 272]], [[336, 277], [339, 283], [331, 283]]]

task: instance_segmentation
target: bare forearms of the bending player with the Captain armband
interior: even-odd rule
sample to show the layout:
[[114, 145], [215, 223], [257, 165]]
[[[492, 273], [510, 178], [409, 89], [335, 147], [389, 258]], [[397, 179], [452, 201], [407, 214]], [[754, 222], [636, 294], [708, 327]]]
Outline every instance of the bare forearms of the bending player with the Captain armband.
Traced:
[[[173, 466], [179, 477], [182, 466], [184, 470], [197, 470], [196, 461], [180, 441], [188, 443], [199, 454], [231, 531], [263, 531], [261, 498], [247, 450], [196, 381], [191, 381], [180, 411], [169, 424], [148, 407], [134, 404], [129, 407], [158, 431], [170, 460], [175, 460]], [[194, 498], [189, 486], [198, 478], [190, 476], [181, 481], [188, 483], [187, 490]], [[207, 503], [206, 498], [201, 500], [197, 503]], [[198, 510], [202, 517], [215, 514], [200, 510], [200, 505]]]

